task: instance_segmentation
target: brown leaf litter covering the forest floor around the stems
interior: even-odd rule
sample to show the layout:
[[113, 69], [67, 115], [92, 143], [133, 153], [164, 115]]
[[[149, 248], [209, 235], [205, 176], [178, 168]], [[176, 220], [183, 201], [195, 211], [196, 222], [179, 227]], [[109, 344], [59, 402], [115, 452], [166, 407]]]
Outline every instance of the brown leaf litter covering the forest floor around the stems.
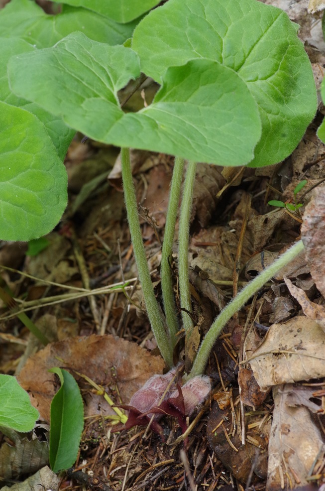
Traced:
[[[301, 25], [300, 36], [320, 84], [325, 62], [321, 23], [307, 7], [320, 10], [322, 2], [265, 3], [284, 8]], [[324, 111], [321, 105], [319, 109]], [[138, 150], [132, 156], [143, 238], [159, 298], [160, 243], [172, 160]], [[67, 159], [71, 204], [60, 229], [50, 235], [49, 247], [28, 258], [16, 245], [4, 245], [0, 251], [2, 265], [37, 278], [4, 270], [2, 273], [14, 289], [15, 298], [33, 308], [35, 320], [44, 314], [56, 320], [53, 324], [59, 327], [59, 334], [55, 336], [60, 339], [39, 349], [31, 345], [15, 318], [1, 325], [1, 334], [11, 335], [1, 337], [1, 371], [15, 373], [19, 360], [23, 360], [18, 380], [29, 391], [42, 419], [27, 439], [14, 441], [10, 435], [1, 436], [0, 461], [4, 464], [0, 478], [4, 483], [12, 478], [21, 480], [37, 468], [42, 468], [40, 473], [46, 469], [43, 449], [47, 446], [49, 404], [58, 389], [54, 375], [47, 370], [54, 366], [70, 370], [80, 385], [85, 401], [85, 431], [75, 474], [70, 473], [60, 484], [48, 484], [35, 474], [36, 485], [44, 483], [46, 489], [56, 490], [81, 483], [86, 488], [120, 491], [191, 489], [190, 483], [194, 483], [198, 490], [273, 491], [312, 489], [308, 486], [318, 487], [325, 482], [325, 212], [324, 187], [319, 186], [325, 178], [324, 158], [325, 146], [311, 125], [283, 164], [267, 169], [237, 168], [234, 172], [206, 164], [198, 166], [189, 247], [197, 327], [195, 338], [190, 340], [192, 351], [187, 352], [191, 357], [195, 356], [197, 338], [202, 338], [233, 291], [299, 237], [303, 213], [301, 233], [306, 257], [301, 255], [295, 264], [282, 270], [229, 322], [209, 361], [205, 395], [197, 397], [193, 410], [192, 406], [186, 408], [186, 385], [178, 384], [176, 373], [173, 377], [165, 373], [141, 290], [134, 281], [137, 272], [120, 192], [116, 149], [74, 140]], [[292, 202], [293, 191], [303, 179], [308, 184], [297, 196], [303, 204], [300, 214], [292, 216], [267, 205], [270, 199]], [[252, 196], [250, 206], [248, 195]], [[83, 263], [76, 258], [73, 234]], [[238, 260], [237, 281], [233, 271]], [[84, 271], [81, 264], [85, 265]], [[177, 272], [173, 271], [176, 288]], [[124, 291], [99, 291], [93, 304], [83, 296], [89, 288], [117, 283], [127, 285]], [[74, 296], [62, 298], [63, 293]], [[43, 306], [43, 299], [48, 299], [49, 305]], [[51, 322], [47, 318], [43, 328], [48, 329]], [[71, 324], [74, 329], [70, 329]], [[11, 342], [12, 334], [17, 333], [19, 345]], [[26, 344], [29, 352], [38, 349], [28, 359], [25, 357], [27, 360], [23, 358]], [[179, 342], [181, 358], [182, 350], [184, 339]], [[171, 385], [164, 394], [165, 382], [163, 389], [157, 390], [156, 385], [154, 389], [150, 385], [152, 380], [169, 380]], [[145, 404], [139, 389], [147, 391], [149, 403]], [[210, 394], [205, 399], [207, 392]], [[145, 426], [133, 426], [130, 421], [128, 430], [120, 426], [119, 432], [114, 431], [116, 412], [105, 393], [117, 406], [135, 407], [140, 414], [135, 414], [134, 422]], [[152, 431], [154, 414], [161, 437]], [[182, 448], [189, 462], [186, 472], [180, 457]], [[24, 463], [22, 454], [27, 456]], [[82, 468], [86, 469], [86, 473], [80, 473], [84, 481], [78, 474]]]

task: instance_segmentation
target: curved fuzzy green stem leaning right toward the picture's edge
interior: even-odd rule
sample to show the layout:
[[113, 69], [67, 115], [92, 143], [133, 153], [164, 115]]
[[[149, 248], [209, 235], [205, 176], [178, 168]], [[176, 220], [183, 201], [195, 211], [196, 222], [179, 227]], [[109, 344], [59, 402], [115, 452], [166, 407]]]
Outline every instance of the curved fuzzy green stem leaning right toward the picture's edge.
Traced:
[[231, 317], [252, 297], [267, 281], [269, 281], [280, 269], [292, 261], [304, 249], [302, 241], [290, 247], [284, 254], [276, 259], [267, 269], [264, 269], [256, 278], [248, 283], [238, 295], [220, 312], [211, 328], [207, 332], [188, 379], [202, 375], [206, 368], [210, 352], [220, 332]]

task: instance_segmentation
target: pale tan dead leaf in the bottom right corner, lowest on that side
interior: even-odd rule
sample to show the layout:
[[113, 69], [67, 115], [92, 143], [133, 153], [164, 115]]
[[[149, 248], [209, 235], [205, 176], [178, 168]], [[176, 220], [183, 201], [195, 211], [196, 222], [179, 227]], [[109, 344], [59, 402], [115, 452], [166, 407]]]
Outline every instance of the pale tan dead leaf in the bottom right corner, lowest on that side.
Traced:
[[291, 384], [273, 389], [273, 423], [269, 440], [267, 491], [299, 489], [308, 484], [317, 460], [322, 460], [325, 445], [309, 410], [288, 404]]

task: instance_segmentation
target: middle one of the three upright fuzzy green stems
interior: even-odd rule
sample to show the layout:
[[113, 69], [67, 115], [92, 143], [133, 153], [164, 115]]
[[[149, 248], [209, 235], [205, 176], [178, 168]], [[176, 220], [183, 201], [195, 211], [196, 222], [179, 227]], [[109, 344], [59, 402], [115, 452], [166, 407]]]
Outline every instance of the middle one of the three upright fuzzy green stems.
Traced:
[[178, 203], [181, 195], [182, 177], [184, 170], [184, 159], [175, 157], [175, 164], [170, 186], [168, 209], [166, 215], [166, 225], [164, 242], [161, 251], [161, 288], [164, 301], [166, 322], [169, 331], [170, 341], [174, 348], [177, 342], [176, 333], [179, 330], [176, 313], [176, 303], [173, 290], [173, 276], [171, 270], [172, 252], [175, 225], [178, 212]]

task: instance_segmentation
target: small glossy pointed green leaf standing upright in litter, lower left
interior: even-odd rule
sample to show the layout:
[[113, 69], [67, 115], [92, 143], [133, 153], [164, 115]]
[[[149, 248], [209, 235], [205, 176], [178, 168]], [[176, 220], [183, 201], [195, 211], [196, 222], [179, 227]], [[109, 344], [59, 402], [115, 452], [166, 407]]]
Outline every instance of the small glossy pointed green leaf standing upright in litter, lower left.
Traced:
[[51, 368], [61, 387], [51, 402], [50, 466], [53, 472], [69, 469], [76, 462], [84, 428], [84, 406], [76, 380], [66, 370]]

